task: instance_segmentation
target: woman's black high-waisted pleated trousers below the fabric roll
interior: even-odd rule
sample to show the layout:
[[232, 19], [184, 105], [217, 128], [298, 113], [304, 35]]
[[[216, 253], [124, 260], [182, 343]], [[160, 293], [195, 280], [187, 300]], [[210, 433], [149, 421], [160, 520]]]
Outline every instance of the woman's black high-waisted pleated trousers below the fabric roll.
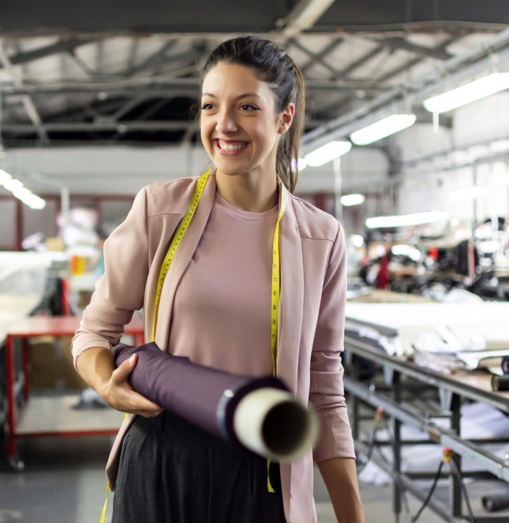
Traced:
[[112, 523], [286, 523], [279, 465], [168, 412], [123, 439]]

